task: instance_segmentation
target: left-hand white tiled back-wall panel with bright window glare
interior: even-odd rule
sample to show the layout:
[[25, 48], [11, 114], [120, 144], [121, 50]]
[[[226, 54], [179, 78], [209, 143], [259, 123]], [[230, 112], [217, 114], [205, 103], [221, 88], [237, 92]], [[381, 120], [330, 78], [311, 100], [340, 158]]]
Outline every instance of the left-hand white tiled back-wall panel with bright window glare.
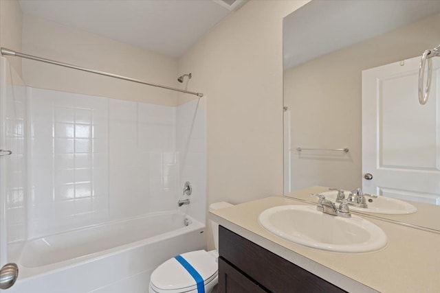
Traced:
[[107, 220], [109, 100], [29, 88], [28, 237]]

